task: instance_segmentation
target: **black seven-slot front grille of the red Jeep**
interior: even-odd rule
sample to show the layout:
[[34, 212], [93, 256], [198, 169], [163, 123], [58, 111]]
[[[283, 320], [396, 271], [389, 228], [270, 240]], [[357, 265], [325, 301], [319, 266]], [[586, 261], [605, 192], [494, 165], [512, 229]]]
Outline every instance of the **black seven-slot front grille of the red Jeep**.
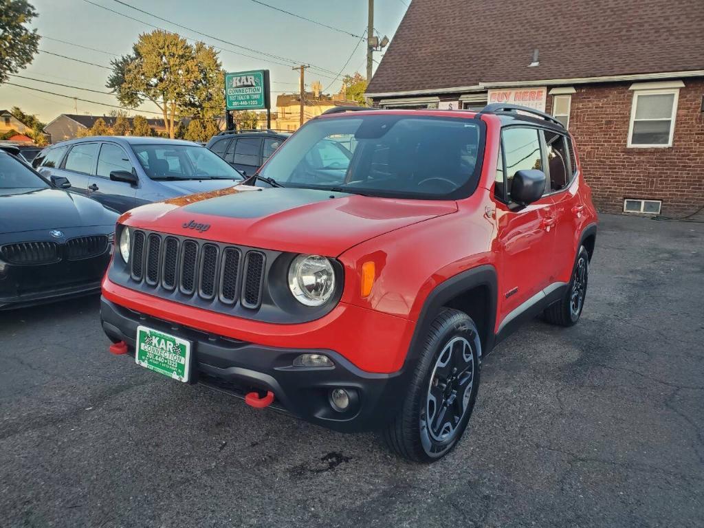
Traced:
[[[256, 249], [135, 230], [130, 277], [161, 296], [178, 290], [205, 301], [260, 308], [266, 255]], [[168, 290], [165, 292], [164, 290]]]

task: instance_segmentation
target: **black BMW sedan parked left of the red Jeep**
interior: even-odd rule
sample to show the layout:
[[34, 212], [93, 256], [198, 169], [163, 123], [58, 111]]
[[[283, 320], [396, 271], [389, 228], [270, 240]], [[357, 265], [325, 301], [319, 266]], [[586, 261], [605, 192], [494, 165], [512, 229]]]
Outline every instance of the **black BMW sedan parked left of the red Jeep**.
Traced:
[[0, 310], [100, 290], [118, 213], [68, 187], [0, 151]]

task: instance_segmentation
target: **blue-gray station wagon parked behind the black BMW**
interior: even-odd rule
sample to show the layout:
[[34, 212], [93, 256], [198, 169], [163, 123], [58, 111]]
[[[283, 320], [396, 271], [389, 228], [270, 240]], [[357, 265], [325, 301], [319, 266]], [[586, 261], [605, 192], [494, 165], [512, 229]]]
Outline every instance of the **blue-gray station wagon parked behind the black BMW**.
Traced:
[[34, 167], [68, 178], [70, 191], [119, 213], [144, 203], [231, 187], [240, 172], [197, 143], [156, 137], [95, 136], [44, 149]]

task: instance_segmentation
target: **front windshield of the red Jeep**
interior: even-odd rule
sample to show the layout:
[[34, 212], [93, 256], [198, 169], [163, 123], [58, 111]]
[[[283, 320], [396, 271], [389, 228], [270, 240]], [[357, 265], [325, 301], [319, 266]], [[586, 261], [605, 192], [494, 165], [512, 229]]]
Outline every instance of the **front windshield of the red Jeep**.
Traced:
[[260, 171], [285, 187], [459, 199], [477, 187], [484, 125], [389, 113], [310, 120]]

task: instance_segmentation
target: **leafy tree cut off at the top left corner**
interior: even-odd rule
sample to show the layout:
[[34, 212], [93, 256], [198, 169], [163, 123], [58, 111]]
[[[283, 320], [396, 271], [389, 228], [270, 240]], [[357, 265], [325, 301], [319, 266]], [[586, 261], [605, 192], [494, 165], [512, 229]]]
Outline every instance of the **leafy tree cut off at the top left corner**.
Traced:
[[0, 83], [32, 63], [39, 51], [39, 34], [25, 27], [37, 16], [26, 0], [0, 0]]

